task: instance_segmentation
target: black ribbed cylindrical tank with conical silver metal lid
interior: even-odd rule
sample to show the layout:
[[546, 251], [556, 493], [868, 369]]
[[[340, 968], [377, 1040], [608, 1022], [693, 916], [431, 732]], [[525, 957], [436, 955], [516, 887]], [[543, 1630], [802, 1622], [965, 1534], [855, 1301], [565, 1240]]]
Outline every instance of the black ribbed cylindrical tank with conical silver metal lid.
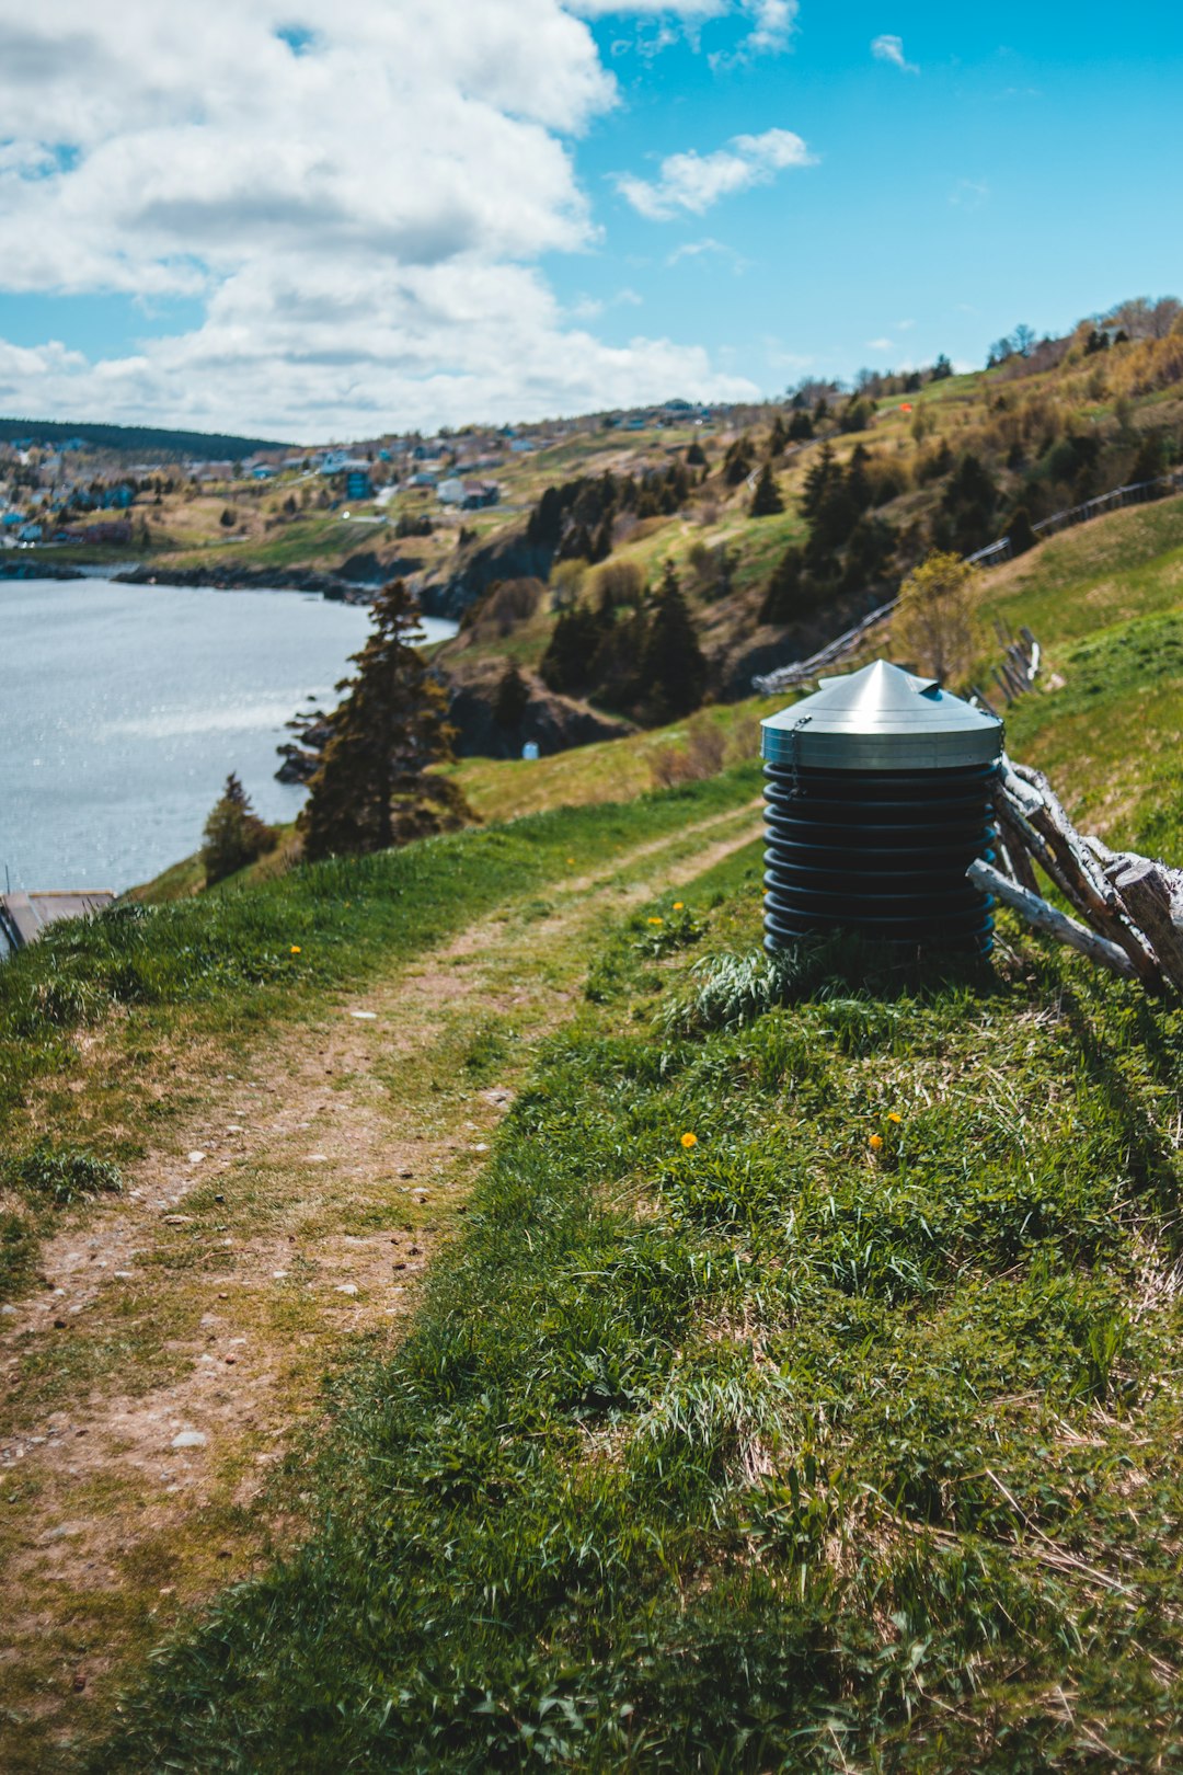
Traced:
[[965, 872], [993, 838], [997, 715], [876, 660], [761, 728], [764, 948], [842, 927], [990, 951], [993, 900]]

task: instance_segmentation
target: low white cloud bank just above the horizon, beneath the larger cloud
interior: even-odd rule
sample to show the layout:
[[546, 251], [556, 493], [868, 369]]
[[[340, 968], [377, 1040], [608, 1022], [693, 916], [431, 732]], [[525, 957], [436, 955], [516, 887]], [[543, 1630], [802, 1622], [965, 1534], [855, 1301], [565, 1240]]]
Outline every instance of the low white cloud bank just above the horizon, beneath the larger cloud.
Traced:
[[87, 362], [60, 346], [0, 346], [0, 410], [314, 440], [511, 415], [541, 419], [662, 399], [747, 399], [701, 346], [607, 346], [571, 325], [527, 266], [356, 272], [250, 266], [202, 327]]

